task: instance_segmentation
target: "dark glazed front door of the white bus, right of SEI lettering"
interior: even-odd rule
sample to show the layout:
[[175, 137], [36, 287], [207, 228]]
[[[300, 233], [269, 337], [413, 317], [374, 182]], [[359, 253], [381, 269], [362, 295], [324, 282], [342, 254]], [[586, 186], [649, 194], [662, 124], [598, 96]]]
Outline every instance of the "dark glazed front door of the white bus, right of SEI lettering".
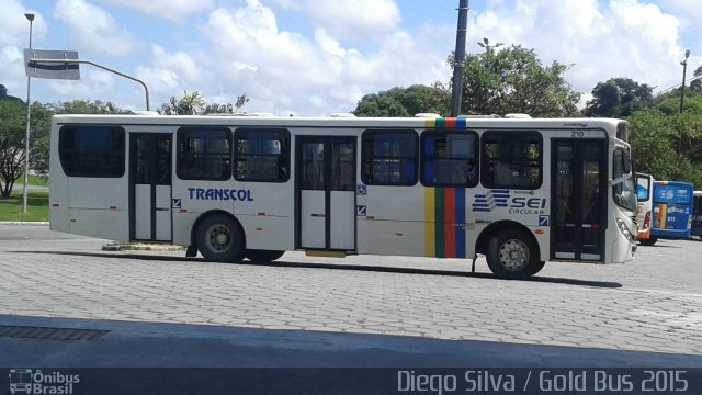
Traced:
[[607, 140], [553, 139], [551, 257], [604, 261]]

